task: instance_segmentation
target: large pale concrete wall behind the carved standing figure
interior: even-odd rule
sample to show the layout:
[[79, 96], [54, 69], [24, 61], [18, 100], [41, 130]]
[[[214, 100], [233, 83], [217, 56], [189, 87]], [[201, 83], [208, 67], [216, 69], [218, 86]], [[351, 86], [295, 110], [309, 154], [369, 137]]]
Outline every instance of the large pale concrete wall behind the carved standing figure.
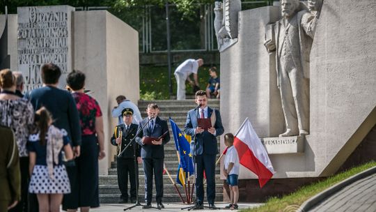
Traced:
[[[263, 47], [265, 24], [278, 16], [277, 7], [239, 13], [239, 41], [221, 53], [225, 133], [247, 116], [259, 137], [283, 132], [274, 55]], [[324, 1], [311, 52], [311, 134], [304, 153], [269, 155], [274, 179], [334, 174], [375, 126], [375, 22], [375, 1]], [[240, 179], [255, 178], [241, 168]]]

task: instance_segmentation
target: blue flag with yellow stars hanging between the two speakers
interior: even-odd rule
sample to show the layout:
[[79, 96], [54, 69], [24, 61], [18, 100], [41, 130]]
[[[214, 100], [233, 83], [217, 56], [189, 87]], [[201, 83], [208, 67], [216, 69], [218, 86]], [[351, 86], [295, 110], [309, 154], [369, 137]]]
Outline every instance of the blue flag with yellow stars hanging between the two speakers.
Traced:
[[170, 123], [173, 131], [173, 139], [175, 140], [175, 148], [180, 157], [178, 173], [176, 174], [176, 183], [185, 186], [187, 173], [189, 173], [189, 175], [194, 174], [191, 147], [185, 136], [182, 134], [182, 131], [171, 118]]

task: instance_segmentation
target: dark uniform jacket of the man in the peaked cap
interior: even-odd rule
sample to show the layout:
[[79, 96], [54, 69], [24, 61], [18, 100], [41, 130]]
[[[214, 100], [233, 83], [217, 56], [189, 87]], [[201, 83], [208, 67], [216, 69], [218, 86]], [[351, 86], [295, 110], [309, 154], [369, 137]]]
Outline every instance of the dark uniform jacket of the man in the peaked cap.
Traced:
[[[126, 130], [126, 126], [125, 126], [124, 123], [116, 126], [115, 132], [113, 132], [113, 135], [111, 137], [111, 144], [113, 146], [118, 146], [118, 144], [116, 144], [116, 137], [118, 137], [119, 136], [119, 132], [122, 131], [123, 135], [122, 135], [122, 139], [121, 139], [121, 148], [120, 148], [120, 151], [123, 151], [123, 149], [125, 148], [125, 146], [127, 146], [132, 141], [132, 138], [136, 135], [138, 128], [139, 128], [139, 125], [134, 124], [134, 123], [132, 123], [130, 125], [130, 130]], [[120, 156], [120, 158], [133, 158], [133, 155], [134, 155], [134, 152], [133, 152], [133, 148], [134, 147], [133, 147], [133, 145], [136, 145], [136, 157], [139, 157], [140, 156], [141, 147], [140, 147], [139, 144], [134, 143], [134, 144], [130, 144], [130, 146]], [[119, 150], [116, 153], [116, 155], [118, 155], [118, 154], [119, 154]]]

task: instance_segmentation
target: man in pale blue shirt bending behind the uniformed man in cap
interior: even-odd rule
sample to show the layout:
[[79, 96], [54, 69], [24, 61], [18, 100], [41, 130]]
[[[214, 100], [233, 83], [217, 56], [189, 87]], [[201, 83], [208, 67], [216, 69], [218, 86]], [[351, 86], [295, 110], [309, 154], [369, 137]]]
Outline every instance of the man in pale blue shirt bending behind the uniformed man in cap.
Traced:
[[123, 124], [123, 114], [121, 112], [125, 108], [131, 108], [133, 109], [133, 121], [132, 123], [139, 124], [140, 121], [142, 121], [141, 118], [141, 112], [139, 110], [139, 107], [134, 105], [130, 100], [127, 100], [127, 98], [123, 95], [120, 95], [116, 97], [116, 102], [118, 103], [118, 106], [113, 107], [112, 109], [112, 117], [113, 118], [118, 118], [118, 125]]

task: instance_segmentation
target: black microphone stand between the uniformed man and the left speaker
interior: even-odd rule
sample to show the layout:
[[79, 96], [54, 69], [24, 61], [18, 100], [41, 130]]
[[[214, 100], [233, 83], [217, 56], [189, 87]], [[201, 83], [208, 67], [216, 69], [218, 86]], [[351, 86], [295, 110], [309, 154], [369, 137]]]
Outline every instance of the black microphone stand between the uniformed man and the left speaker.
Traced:
[[[152, 119], [154, 119], [154, 117], [152, 117]], [[133, 145], [133, 162], [134, 162], [134, 176], [136, 176], [136, 203], [134, 205], [132, 205], [132, 206], [129, 206], [129, 207], [125, 208], [124, 211], [133, 209], [136, 206], [144, 206], [143, 204], [141, 204], [139, 202], [139, 169], [138, 169], [138, 165], [137, 165], [137, 156], [136, 156], [136, 144], [137, 144], [136, 143], [136, 137], [139, 136], [140, 132], [142, 132], [143, 128], [145, 128], [148, 125], [148, 123], [149, 123], [150, 120], [151, 119], [149, 119], [148, 122], [146, 122], [141, 127], [141, 129], [139, 129], [136, 132], [136, 135], [134, 135], [134, 137], [131, 139], [130, 143], [127, 144], [127, 146], [124, 147], [123, 151], [121, 151], [120, 154], [118, 155], [118, 157], [120, 157], [124, 153], [125, 149], [127, 149], [130, 146], [130, 144], [134, 143], [134, 145]], [[136, 169], [136, 167], [137, 167], [137, 169]], [[150, 206], [150, 208], [151, 209], [159, 209], [157, 207], [152, 207], [152, 206]]]

